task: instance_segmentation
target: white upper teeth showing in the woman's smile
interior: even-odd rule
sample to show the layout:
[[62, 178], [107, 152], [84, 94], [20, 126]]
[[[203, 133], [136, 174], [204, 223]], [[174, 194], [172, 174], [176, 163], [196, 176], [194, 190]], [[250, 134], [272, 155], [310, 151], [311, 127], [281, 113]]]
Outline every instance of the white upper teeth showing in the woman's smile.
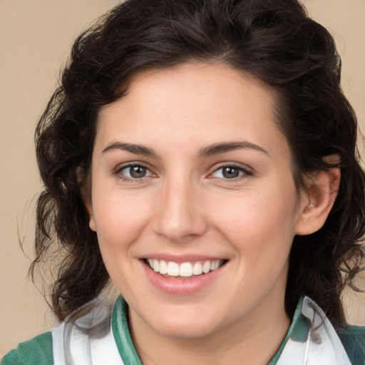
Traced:
[[222, 259], [215, 261], [196, 261], [196, 262], [167, 262], [163, 259], [147, 259], [148, 264], [155, 272], [160, 274], [168, 274], [170, 277], [191, 277], [192, 275], [200, 275], [217, 269], [223, 263]]

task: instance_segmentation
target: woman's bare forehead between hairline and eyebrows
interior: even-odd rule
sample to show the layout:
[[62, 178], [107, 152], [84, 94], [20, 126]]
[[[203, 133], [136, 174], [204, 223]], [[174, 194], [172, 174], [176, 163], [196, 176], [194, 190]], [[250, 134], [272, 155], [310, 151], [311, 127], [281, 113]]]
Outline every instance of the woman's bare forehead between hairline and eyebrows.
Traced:
[[275, 92], [250, 74], [222, 64], [186, 63], [136, 74], [128, 93], [99, 113], [97, 142], [193, 148], [244, 138], [268, 148], [279, 140], [287, 148], [275, 110]]

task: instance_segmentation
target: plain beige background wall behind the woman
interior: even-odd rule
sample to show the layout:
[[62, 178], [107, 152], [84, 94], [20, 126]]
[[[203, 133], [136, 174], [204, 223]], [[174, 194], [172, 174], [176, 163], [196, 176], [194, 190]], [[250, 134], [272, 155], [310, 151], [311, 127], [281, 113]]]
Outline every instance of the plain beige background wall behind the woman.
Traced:
[[[41, 188], [34, 128], [73, 39], [117, 2], [0, 0], [0, 358], [19, 341], [53, 325], [51, 310], [26, 279], [34, 202]], [[343, 86], [365, 131], [365, 0], [304, 4], [336, 38], [344, 65]], [[347, 296], [346, 303], [350, 322], [365, 324], [365, 296]]]

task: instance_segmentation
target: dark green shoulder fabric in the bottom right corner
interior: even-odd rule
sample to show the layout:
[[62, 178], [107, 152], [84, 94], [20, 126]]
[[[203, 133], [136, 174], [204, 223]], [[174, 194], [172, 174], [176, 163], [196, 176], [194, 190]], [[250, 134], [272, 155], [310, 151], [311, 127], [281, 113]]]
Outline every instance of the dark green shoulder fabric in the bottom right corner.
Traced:
[[336, 332], [344, 345], [351, 364], [365, 365], [365, 327], [337, 327]]

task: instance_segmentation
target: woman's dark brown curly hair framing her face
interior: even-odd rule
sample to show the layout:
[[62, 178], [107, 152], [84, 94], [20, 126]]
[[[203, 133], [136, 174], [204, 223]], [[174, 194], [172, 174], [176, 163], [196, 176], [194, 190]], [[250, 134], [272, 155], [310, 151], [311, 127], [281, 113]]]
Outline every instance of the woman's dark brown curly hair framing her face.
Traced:
[[[304, 173], [341, 168], [324, 227], [294, 237], [285, 305], [291, 315], [299, 296], [307, 295], [332, 322], [343, 322], [340, 295], [363, 257], [365, 178], [334, 39], [297, 0], [127, 0], [78, 36], [36, 128], [44, 190], [31, 274], [38, 264], [55, 262], [51, 302], [60, 320], [107, 286], [82, 197], [98, 111], [125, 95], [135, 73], [194, 60], [226, 63], [277, 91], [277, 119], [292, 151], [298, 191]], [[324, 162], [333, 153], [339, 165]]]

